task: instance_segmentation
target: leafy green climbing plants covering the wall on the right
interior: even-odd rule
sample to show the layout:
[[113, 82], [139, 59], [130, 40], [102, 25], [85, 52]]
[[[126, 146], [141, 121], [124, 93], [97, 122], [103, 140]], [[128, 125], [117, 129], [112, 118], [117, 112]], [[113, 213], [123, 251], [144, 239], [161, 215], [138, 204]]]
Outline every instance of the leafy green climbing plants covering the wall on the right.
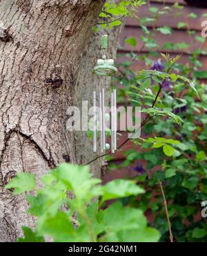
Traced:
[[[130, 98], [133, 106], [141, 107], [143, 118], [148, 118], [141, 131], [145, 136], [144, 141], [140, 138], [133, 140], [136, 145], [141, 144], [141, 149], [139, 152], [137, 149], [128, 149], [124, 152], [126, 160], [119, 165], [120, 168], [130, 168], [134, 162], [138, 161], [141, 165], [145, 161], [146, 164], [141, 165], [142, 169], [138, 165], [137, 176], [133, 179], [145, 188], [146, 193], [140, 200], [130, 196], [125, 202], [144, 211], [150, 210], [155, 219], [154, 226], [161, 232], [160, 240], [169, 241], [168, 223], [158, 186], [158, 181], [161, 181], [175, 239], [207, 241], [206, 220], [198, 217], [201, 201], [207, 198], [207, 84], [200, 81], [206, 79], [207, 73], [199, 60], [199, 55], [206, 55], [206, 51], [199, 48], [192, 51], [190, 48], [191, 41], [193, 44], [203, 44], [204, 38], [190, 30], [188, 19], [198, 18], [196, 14], [190, 13], [184, 22], [177, 23], [177, 28], [186, 29], [189, 44], [179, 42], [177, 38], [176, 44], [166, 42], [159, 46], [155, 37], [157, 30], [166, 39], [170, 33], [174, 33], [167, 24], [157, 29], [159, 18], [172, 15], [170, 12], [175, 14], [175, 18], [184, 15], [184, 6], [179, 6], [179, 3], [170, 8], [165, 7], [150, 6], [150, 16], [139, 19], [141, 26], [145, 26], [139, 38], [143, 42], [140, 49], [147, 48], [148, 53], [127, 53], [127, 68], [123, 68], [119, 75], [124, 87], [119, 91], [119, 97]], [[188, 61], [181, 62], [180, 55], [173, 58], [168, 53], [161, 54], [163, 59], [160, 60], [159, 53], [155, 51], [157, 46], [164, 53], [186, 49]], [[133, 71], [130, 66], [134, 62], [145, 65], [148, 70]], [[124, 67], [124, 64], [120, 66]]]

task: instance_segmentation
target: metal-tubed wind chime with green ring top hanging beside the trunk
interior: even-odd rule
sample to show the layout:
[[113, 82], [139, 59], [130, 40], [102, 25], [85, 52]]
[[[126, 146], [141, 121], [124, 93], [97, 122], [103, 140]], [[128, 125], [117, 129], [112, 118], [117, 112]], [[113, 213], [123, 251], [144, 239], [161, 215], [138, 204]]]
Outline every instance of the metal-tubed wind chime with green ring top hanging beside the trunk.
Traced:
[[[95, 66], [92, 72], [95, 75], [101, 77], [114, 76], [117, 73], [117, 68], [114, 66], [114, 60], [108, 59], [108, 35], [102, 35], [101, 37], [101, 52], [103, 53], [102, 59], [97, 60], [97, 66]], [[103, 153], [105, 150], [110, 149], [112, 153], [115, 153], [117, 149], [117, 90], [113, 89], [110, 93], [110, 145], [106, 143], [106, 120], [108, 119], [108, 113], [106, 113], [105, 106], [105, 88], [101, 91], [93, 91], [92, 107], [93, 107], [93, 152], [97, 152], [97, 128], [99, 128], [100, 137], [100, 151]], [[99, 98], [99, 100], [98, 100]], [[99, 125], [97, 122], [97, 103], [99, 104]]]

